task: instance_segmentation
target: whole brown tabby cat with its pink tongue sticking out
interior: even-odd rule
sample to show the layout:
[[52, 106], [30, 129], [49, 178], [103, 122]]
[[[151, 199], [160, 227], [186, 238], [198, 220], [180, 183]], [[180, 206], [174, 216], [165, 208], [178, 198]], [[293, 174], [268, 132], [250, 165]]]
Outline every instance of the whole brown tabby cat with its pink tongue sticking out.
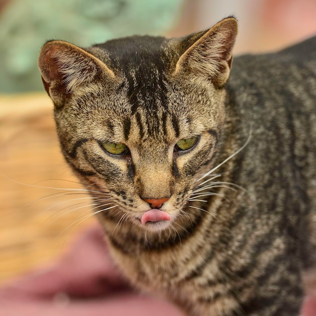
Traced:
[[237, 28], [53, 40], [38, 65], [136, 288], [190, 316], [297, 316], [316, 260], [316, 38], [232, 67]]

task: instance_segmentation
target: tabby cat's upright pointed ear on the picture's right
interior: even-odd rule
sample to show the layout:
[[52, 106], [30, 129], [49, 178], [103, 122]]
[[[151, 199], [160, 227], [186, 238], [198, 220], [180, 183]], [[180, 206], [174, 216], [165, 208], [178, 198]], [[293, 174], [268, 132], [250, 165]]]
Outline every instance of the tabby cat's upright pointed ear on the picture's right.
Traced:
[[180, 56], [174, 74], [193, 74], [211, 80], [216, 87], [222, 87], [229, 77], [237, 28], [237, 20], [231, 17], [206, 32], [185, 38], [182, 47], [187, 43], [190, 46]]

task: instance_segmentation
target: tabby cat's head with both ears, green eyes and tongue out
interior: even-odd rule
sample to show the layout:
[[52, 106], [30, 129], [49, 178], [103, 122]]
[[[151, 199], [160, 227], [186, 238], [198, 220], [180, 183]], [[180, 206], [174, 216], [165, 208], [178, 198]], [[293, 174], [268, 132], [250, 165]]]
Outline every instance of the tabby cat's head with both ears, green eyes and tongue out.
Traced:
[[236, 33], [228, 18], [179, 39], [42, 47], [63, 153], [109, 225], [156, 231], [179, 219], [214, 164]]

